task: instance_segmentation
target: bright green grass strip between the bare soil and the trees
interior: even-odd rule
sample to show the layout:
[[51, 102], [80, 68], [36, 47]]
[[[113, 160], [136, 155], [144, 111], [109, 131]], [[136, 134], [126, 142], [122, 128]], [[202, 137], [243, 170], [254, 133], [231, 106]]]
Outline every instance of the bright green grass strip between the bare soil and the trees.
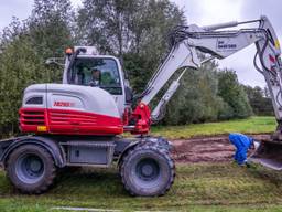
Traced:
[[185, 126], [155, 126], [152, 135], [169, 139], [189, 138], [193, 136], [212, 136], [218, 134], [242, 132], [261, 134], [272, 132], [276, 127], [274, 117], [253, 116], [248, 119], [228, 120], [219, 123], [193, 124]]

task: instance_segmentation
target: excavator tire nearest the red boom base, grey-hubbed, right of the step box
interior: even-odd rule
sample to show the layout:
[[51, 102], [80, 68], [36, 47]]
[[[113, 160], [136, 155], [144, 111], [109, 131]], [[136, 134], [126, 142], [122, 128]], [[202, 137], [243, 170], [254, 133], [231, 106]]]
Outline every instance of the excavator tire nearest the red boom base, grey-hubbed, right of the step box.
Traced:
[[120, 174], [131, 195], [158, 197], [165, 194], [173, 184], [175, 166], [165, 149], [137, 146], [123, 156]]

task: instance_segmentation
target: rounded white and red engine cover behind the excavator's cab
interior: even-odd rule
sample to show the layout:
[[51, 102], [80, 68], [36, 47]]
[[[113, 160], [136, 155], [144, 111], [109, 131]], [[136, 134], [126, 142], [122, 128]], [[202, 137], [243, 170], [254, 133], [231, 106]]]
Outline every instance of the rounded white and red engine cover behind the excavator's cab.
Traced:
[[20, 109], [24, 132], [118, 135], [122, 120], [113, 97], [98, 87], [35, 84], [24, 91]]

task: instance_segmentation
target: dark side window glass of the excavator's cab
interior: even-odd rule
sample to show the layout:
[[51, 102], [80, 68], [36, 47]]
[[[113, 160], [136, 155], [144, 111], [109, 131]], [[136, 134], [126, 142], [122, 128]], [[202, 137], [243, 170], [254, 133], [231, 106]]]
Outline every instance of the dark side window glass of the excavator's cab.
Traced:
[[119, 70], [113, 59], [78, 57], [69, 73], [69, 84], [97, 86], [110, 94], [122, 94]]

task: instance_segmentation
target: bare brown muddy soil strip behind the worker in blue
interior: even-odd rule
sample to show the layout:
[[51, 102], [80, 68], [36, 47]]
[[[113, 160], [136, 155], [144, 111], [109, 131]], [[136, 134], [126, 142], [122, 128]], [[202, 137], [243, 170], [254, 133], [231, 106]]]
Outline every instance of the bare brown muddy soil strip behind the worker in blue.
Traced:
[[[265, 140], [269, 135], [250, 135], [256, 140]], [[173, 158], [176, 162], [223, 162], [232, 160], [235, 147], [228, 136], [197, 137], [172, 140]]]

